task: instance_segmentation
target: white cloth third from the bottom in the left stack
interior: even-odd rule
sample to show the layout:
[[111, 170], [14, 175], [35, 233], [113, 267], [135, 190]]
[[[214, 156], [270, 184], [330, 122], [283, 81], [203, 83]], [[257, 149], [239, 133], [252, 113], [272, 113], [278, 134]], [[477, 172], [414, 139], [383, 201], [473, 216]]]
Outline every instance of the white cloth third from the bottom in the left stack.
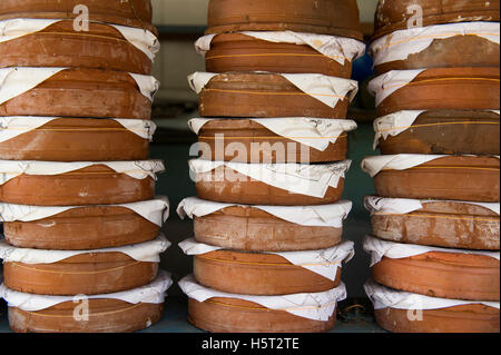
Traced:
[[[32, 221], [52, 217], [70, 209], [87, 207], [89, 206], [24, 206], [0, 203], [0, 221]], [[132, 204], [106, 205], [106, 207], [130, 209], [159, 227], [169, 217], [169, 200], [165, 196]]]

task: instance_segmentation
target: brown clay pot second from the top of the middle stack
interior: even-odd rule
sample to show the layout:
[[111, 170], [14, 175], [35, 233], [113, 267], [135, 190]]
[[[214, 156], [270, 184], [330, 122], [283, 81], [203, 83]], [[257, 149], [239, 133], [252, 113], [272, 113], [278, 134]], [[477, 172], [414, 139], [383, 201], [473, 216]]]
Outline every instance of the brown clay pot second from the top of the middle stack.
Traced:
[[306, 45], [269, 42], [242, 33], [217, 34], [205, 63], [209, 72], [311, 72], [346, 79], [352, 76], [351, 58], [341, 65]]

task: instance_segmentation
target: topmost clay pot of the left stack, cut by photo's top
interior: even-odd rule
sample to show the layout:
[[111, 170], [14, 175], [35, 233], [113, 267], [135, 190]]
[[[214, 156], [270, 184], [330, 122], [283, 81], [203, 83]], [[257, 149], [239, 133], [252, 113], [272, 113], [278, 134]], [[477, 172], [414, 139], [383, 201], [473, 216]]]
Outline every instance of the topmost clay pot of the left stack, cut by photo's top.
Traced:
[[2, 0], [0, 20], [75, 19], [81, 13], [73, 12], [80, 4], [89, 9], [88, 16], [92, 22], [109, 22], [156, 31], [151, 26], [150, 0]]

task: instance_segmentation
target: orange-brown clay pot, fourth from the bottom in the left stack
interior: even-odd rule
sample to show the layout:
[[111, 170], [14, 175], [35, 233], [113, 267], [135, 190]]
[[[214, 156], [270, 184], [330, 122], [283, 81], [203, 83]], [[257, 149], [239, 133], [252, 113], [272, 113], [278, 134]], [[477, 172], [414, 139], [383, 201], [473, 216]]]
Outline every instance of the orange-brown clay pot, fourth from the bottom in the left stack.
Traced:
[[102, 165], [61, 175], [20, 175], [0, 186], [0, 200], [31, 206], [129, 204], [153, 199], [155, 180], [136, 179]]

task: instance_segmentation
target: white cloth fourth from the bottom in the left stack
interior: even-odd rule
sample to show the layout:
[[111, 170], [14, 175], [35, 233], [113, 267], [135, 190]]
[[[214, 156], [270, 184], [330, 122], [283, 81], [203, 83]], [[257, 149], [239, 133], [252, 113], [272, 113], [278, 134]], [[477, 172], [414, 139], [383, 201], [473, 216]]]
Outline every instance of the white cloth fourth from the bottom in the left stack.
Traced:
[[90, 166], [105, 165], [119, 174], [126, 174], [135, 179], [150, 177], [156, 179], [156, 174], [165, 170], [161, 160], [138, 160], [138, 161], [75, 161], [53, 162], [35, 160], [0, 160], [0, 185], [19, 175], [60, 175]]

